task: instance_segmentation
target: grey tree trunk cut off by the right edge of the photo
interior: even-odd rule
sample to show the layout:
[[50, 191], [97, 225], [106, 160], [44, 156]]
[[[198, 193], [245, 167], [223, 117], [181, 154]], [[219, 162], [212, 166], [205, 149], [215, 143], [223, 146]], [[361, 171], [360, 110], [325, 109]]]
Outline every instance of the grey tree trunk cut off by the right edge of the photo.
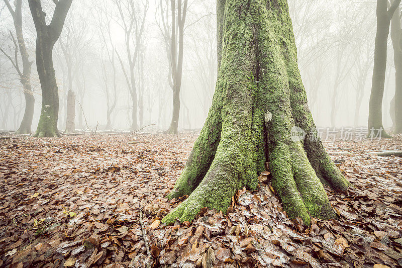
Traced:
[[399, 7], [391, 19], [391, 40], [395, 64], [395, 96], [390, 104], [392, 128], [395, 134], [402, 133], [402, 14]]

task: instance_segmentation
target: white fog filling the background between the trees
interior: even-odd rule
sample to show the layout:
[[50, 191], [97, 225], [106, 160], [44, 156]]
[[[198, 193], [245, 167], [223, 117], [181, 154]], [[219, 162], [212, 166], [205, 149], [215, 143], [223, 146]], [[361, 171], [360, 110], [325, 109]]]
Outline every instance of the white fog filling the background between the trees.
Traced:
[[[29, 58], [34, 60], [36, 31], [27, 2], [23, 1], [22, 6], [23, 33]], [[93, 129], [97, 123], [99, 130], [131, 130], [147, 125], [151, 126], [145, 128], [146, 131], [169, 128], [173, 90], [168, 56], [170, 39], [166, 37], [171, 14], [166, 7], [170, 2], [135, 0], [133, 6], [130, 3], [129, 0], [72, 2], [53, 49], [60, 130], [66, 128], [69, 88], [76, 98], [76, 129], [86, 129], [86, 125]], [[322, 127], [367, 126], [376, 3], [349, 0], [291, 0], [288, 3], [298, 64], [316, 124]], [[42, 5], [50, 23], [55, 4], [42, 1]], [[11, 35], [12, 32], [15, 36], [13, 17], [4, 3], [0, 9], [0, 47], [15, 59]], [[178, 49], [179, 22], [176, 24]], [[216, 24], [215, 1], [188, 2], [183, 27], [179, 131], [201, 128], [212, 103], [217, 78]], [[127, 29], [131, 31], [128, 37]], [[21, 61], [20, 56], [17, 58]], [[392, 126], [389, 110], [395, 94], [394, 72], [389, 38], [382, 107], [385, 128]], [[31, 84], [35, 98], [32, 129], [35, 131], [42, 103], [35, 63]], [[130, 93], [134, 85], [135, 98]], [[137, 127], [132, 127], [133, 98], [137, 104], [134, 107]], [[0, 53], [0, 129], [18, 129], [24, 108], [20, 76], [5, 53]], [[107, 127], [108, 110], [111, 125]]]

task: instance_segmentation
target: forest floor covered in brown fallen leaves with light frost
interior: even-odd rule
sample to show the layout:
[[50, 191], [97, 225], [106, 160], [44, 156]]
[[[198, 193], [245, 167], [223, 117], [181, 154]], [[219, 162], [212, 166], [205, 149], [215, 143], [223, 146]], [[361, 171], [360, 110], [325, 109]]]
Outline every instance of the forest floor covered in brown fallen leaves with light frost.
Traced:
[[402, 150], [402, 136], [324, 143], [354, 186], [328, 191], [338, 220], [310, 228], [289, 220], [266, 172], [227, 215], [203, 209], [193, 222], [165, 226], [160, 220], [184, 199], [165, 196], [196, 136], [0, 140], [0, 266], [402, 266], [402, 158], [369, 154]]

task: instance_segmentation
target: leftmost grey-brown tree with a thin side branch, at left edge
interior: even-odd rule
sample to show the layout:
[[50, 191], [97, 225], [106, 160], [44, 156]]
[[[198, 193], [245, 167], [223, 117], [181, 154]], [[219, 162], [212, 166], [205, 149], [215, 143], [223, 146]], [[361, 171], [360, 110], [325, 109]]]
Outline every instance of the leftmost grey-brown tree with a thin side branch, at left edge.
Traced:
[[[25, 46], [25, 40], [24, 40], [23, 31], [22, 31], [22, 24], [23, 24], [23, 22], [22, 22], [22, 0], [14, 1], [15, 10], [13, 10], [12, 6], [9, 3], [9, 0], [4, 0], [4, 2], [6, 3], [6, 6], [9, 9], [10, 14], [13, 17], [14, 27], [16, 30], [17, 41], [15, 40], [14, 36], [12, 35], [13, 42], [15, 45], [15, 59], [13, 60], [11, 56], [9, 56], [8, 54], [5, 53], [5, 51], [3, 51], [3, 50], [2, 51], [11, 60], [11, 62], [13, 63], [13, 66], [17, 70], [17, 72], [20, 76], [20, 81], [23, 85], [23, 92], [24, 92], [24, 97], [25, 97], [24, 117], [21, 121], [19, 129], [17, 130], [17, 133], [18, 134], [30, 134], [32, 119], [34, 116], [34, 107], [35, 107], [35, 98], [33, 96], [32, 86], [31, 86], [31, 66], [32, 66], [33, 61], [29, 60], [29, 54], [28, 54], [27, 48]], [[18, 45], [17, 45], [17, 42], [18, 42]], [[20, 51], [21, 59], [22, 59], [22, 65], [23, 65], [22, 71], [18, 64], [18, 57], [17, 57], [18, 48]]]

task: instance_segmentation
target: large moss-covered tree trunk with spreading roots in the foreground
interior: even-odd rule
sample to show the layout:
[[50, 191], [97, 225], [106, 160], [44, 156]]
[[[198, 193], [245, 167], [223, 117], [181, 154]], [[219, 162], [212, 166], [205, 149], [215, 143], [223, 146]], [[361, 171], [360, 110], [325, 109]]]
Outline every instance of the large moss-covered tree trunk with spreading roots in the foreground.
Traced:
[[[254, 190], [269, 161], [290, 218], [336, 215], [323, 183], [349, 183], [318, 140], [297, 66], [287, 0], [218, 0], [216, 92], [207, 121], [169, 198], [189, 197], [163, 222], [226, 212], [239, 189]], [[307, 135], [292, 138], [295, 130]]]

